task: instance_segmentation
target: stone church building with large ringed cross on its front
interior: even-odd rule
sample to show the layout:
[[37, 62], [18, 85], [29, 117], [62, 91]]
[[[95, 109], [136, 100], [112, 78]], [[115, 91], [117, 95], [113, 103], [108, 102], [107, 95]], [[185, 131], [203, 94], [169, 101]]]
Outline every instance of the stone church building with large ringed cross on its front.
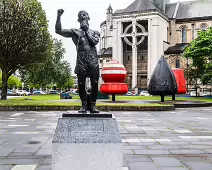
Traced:
[[127, 69], [130, 89], [146, 89], [152, 72], [165, 55], [172, 68], [185, 69], [183, 48], [197, 37], [198, 30], [212, 26], [212, 2], [197, 0], [135, 0], [113, 12], [109, 5], [101, 23], [101, 63], [116, 59]]

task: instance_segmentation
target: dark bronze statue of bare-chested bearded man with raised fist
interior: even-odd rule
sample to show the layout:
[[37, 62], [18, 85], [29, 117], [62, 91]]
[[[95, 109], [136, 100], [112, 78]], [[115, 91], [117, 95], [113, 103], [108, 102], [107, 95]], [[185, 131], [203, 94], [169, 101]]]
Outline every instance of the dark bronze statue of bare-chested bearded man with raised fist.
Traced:
[[78, 78], [79, 96], [82, 101], [82, 108], [79, 113], [87, 113], [87, 101], [85, 91], [86, 77], [91, 80], [91, 94], [90, 94], [90, 113], [99, 113], [96, 109], [96, 98], [98, 94], [98, 80], [99, 80], [99, 63], [96, 46], [99, 42], [100, 34], [98, 31], [89, 29], [90, 20], [86, 11], [78, 13], [79, 29], [62, 29], [61, 16], [63, 9], [57, 11], [57, 21], [55, 31], [63, 37], [72, 38], [77, 50], [77, 61], [75, 67], [75, 74]]

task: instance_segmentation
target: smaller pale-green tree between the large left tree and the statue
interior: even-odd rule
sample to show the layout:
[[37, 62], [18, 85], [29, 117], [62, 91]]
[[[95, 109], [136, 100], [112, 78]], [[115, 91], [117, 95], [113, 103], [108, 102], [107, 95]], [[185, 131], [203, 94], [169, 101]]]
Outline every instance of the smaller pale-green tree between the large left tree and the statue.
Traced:
[[65, 49], [61, 40], [53, 40], [53, 48], [44, 63], [34, 64], [20, 70], [21, 79], [25, 84], [39, 87], [53, 86], [59, 88], [72, 87], [71, 66], [63, 60]]

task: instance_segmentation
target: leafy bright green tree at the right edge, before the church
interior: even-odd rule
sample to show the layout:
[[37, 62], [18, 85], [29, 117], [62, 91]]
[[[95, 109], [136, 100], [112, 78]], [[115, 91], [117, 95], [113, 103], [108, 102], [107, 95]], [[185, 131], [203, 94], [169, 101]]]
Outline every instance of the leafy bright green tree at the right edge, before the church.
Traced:
[[198, 37], [186, 47], [184, 57], [192, 59], [192, 70], [203, 84], [212, 82], [212, 27], [199, 31]]

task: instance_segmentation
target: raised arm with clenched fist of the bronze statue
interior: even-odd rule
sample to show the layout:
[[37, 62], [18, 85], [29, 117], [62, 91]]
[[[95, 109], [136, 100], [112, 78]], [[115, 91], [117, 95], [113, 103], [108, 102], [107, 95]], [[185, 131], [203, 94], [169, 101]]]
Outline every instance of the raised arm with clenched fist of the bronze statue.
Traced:
[[57, 10], [57, 21], [55, 24], [55, 32], [63, 37], [72, 37], [73, 31], [71, 29], [62, 29], [61, 26], [61, 16], [63, 15], [64, 10], [58, 9]]

